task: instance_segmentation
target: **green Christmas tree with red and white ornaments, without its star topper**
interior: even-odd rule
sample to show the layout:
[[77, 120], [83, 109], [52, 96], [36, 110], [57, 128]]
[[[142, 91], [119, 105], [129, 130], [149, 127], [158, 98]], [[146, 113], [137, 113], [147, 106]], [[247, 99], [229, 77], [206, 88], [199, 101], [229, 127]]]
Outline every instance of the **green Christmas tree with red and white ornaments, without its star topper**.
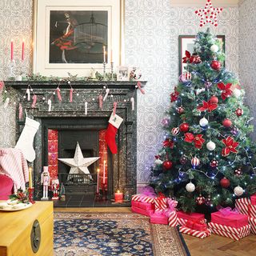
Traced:
[[162, 121], [166, 138], [150, 185], [186, 212], [211, 212], [256, 191], [252, 118], [238, 78], [224, 67], [222, 43], [209, 29], [197, 34], [194, 53], [185, 55], [186, 72], [170, 94], [169, 117]]

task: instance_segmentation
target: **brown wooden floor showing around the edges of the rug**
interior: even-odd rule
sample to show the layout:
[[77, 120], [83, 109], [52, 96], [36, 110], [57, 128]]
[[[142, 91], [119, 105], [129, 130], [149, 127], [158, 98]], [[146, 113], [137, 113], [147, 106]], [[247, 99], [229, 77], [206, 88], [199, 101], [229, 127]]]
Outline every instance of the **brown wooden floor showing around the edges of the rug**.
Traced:
[[[94, 208], [54, 208], [54, 211], [62, 212], [120, 212], [128, 213], [128, 207], [94, 207]], [[194, 238], [184, 234], [186, 245], [191, 256], [254, 256], [256, 255], [256, 235], [250, 234], [241, 241], [234, 242], [230, 238], [224, 238], [212, 234], [209, 238]]]

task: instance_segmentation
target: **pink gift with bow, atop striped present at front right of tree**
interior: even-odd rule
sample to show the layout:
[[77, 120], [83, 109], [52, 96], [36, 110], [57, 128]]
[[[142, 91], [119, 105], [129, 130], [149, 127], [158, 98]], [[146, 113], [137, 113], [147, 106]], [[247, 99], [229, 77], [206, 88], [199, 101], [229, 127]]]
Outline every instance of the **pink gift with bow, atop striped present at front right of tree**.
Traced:
[[211, 214], [211, 222], [239, 228], [248, 225], [248, 217], [237, 211], [232, 211], [230, 207], [226, 207]]

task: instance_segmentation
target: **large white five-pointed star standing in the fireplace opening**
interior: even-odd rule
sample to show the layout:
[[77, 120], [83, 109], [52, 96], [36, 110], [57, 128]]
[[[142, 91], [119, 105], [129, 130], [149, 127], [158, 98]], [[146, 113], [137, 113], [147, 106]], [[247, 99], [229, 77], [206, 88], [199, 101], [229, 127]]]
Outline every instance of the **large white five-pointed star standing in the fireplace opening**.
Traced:
[[79, 143], [77, 143], [74, 158], [58, 158], [58, 161], [63, 162], [67, 166], [71, 167], [70, 174], [90, 174], [90, 171], [87, 167], [96, 162], [98, 159], [99, 157], [84, 158]]

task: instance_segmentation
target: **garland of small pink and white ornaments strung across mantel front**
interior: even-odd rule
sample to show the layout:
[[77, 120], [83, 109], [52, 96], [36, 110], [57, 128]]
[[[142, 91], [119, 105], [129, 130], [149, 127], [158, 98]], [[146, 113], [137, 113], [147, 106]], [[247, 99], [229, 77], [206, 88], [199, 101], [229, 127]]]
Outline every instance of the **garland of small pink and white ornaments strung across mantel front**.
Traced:
[[[79, 96], [79, 90], [74, 90], [74, 88], [71, 85], [70, 80], [67, 81], [67, 83], [70, 86], [70, 89], [62, 89], [61, 90], [61, 86], [62, 86], [61, 82], [63, 82], [62, 79], [58, 80], [57, 88], [47, 90], [46, 94], [48, 94], [50, 96], [47, 98], [44, 95], [39, 98], [39, 96], [34, 92], [33, 87], [29, 84], [26, 88], [25, 94], [23, 94], [23, 96], [22, 96], [22, 99], [18, 98], [18, 118], [19, 118], [19, 120], [22, 120], [22, 115], [23, 115], [22, 100], [23, 101], [27, 100], [27, 102], [30, 102], [30, 100], [32, 99], [31, 108], [36, 108], [37, 102], [39, 102], [39, 101], [45, 102], [48, 105], [48, 111], [50, 112], [52, 110], [52, 99], [53, 99], [54, 95], [57, 94], [58, 102], [62, 102], [63, 101], [62, 90], [70, 90], [69, 102], [72, 103], [73, 99], [74, 99], [74, 95], [76, 95], [77, 97]], [[145, 91], [142, 89], [141, 82], [138, 81], [135, 88], [140, 90], [142, 94], [145, 94]], [[2, 94], [2, 91], [4, 92], [3, 93], [3, 102], [4, 102], [3, 107], [4, 108], [6, 108], [7, 106], [10, 106], [10, 104], [14, 104], [14, 105], [17, 104], [16, 101], [11, 102], [10, 91], [6, 90], [4, 82], [0, 82], [0, 95]], [[114, 95], [111, 94], [111, 91], [108, 88], [108, 86], [104, 85], [102, 87], [102, 90], [100, 91], [100, 93], [95, 95], [95, 97], [83, 98], [85, 115], [88, 114], [88, 108], [89, 108], [91, 102], [98, 101], [98, 107], [102, 110], [103, 102], [106, 102], [108, 97], [110, 97], [113, 101], [113, 107], [111, 110], [113, 111], [114, 114], [116, 112], [118, 104], [121, 102], [131, 104], [131, 108], [132, 108], [132, 110], [134, 110], [135, 109], [134, 95], [135, 95], [136, 91], [137, 90], [134, 90], [134, 93], [131, 95], [132, 97], [125, 98], [122, 101], [118, 101], [118, 100], [114, 99]]]

